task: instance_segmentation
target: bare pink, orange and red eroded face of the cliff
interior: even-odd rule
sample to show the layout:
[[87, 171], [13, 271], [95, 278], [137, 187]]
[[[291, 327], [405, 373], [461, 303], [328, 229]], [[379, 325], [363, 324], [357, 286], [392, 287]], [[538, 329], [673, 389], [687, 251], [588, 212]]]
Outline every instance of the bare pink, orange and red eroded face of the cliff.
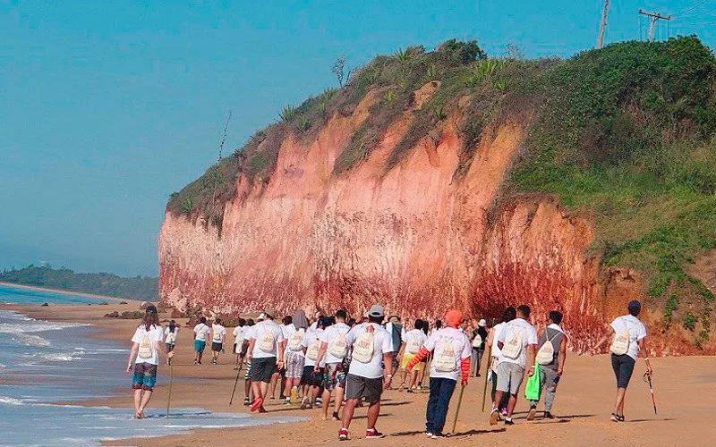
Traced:
[[488, 125], [463, 177], [455, 175], [459, 113], [386, 173], [410, 124], [404, 114], [367, 160], [332, 175], [376, 100], [369, 94], [353, 114], [335, 114], [309, 142], [285, 139], [268, 182], [240, 177], [220, 237], [212, 225], [167, 213], [159, 235], [162, 299], [216, 312], [354, 314], [380, 302], [409, 319], [435, 319], [451, 307], [497, 317], [506, 305], [526, 303], [535, 323], [562, 310], [572, 347], [584, 351], [642, 294], [638, 275], [600, 272], [598, 259], [585, 254], [594, 237], [589, 216], [569, 215], [548, 196], [499, 197], [529, 110]]

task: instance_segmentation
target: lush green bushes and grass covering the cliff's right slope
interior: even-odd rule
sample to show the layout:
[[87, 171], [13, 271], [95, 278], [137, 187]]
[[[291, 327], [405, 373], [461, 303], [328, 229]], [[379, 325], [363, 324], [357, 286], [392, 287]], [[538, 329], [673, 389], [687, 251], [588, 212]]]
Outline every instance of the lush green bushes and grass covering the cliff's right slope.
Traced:
[[693, 37], [560, 62], [536, 84], [541, 114], [507, 185], [592, 214], [603, 265], [644, 274], [669, 322], [676, 302], [702, 299], [706, 333], [713, 295], [684, 267], [716, 249], [715, 83], [716, 60]]

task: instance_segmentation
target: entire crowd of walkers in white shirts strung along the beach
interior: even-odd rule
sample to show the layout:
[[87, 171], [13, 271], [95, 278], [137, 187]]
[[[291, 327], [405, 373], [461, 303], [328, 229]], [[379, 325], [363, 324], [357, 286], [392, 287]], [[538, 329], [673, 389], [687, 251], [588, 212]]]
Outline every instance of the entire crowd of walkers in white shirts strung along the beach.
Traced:
[[[611, 420], [623, 422], [626, 387], [641, 352], [647, 374], [652, 374], [645, 356], [646, 330], [637, 316], [641, 304], [632, 301], [626, 316], [618, 316], [600, 342], [612, 340], [611, 364], [617, 378], [618, 392]], [[394, 375], [400, 369], [397, 390], [414, 392], [422, 384], [426, 370], [430, 378], [430, 396], [425, 415], [425, 434], [438, 439], [445, 436], [447, 408], [456, 385], [468, 384], [470, 377], [481, 376], [480, 364], [487, 352], [488, 376], [491, 383], [490, 425], [503, 420], [514, 425], [513, 414], [523, 382], [530, 409], [527, 420], [537, 415], [537, 404], [544, 396], [544, 418], [554, 417], [552, 406], [558, 383], [567, 359], [567, 333], [563, 330], [562, 314], [549, 312], [549, 323], [537, 331], [529, 322], [531, 310], [522, 305], [507, 308], [501, 321], [489, 327], [480, 320], [468, 327], [461, 312], [447, 311], [442, 321], [432, 328], [426, 320], [415, 321], [413, 329], [405, 330], [400, 318], [391, 316], [384, 323], [384, 308], [373, 305], [361, 322], [348, 318], [339, 309], [333, 316], [316, 315], [310, 322], [302, 309], [277, 323], [277, 313], [264, 309], [254, 323], [240, 318], [235, 327], [234, 355], [237, 380], [246, 368], [244, 405], [251, 411], [266, 412], [265, 403], [276, 398], [279, 386], [286, 405], [302, 409], [319, 406], [321, 417], [340, 421], [338, 439], [348, 439], [348, 429], [356, 407], [367, 405], [365, 437], [382, 437], [376, 427], [383, 390], [394, 388]], [[132, 352], [127, 371], [134, 368], [133, 384], [135, 417], [144, 417], [143, 410], [156, 382], [159, 354], [171, 362], [178, 326], [172, 320], [166, 330], [158, 324], [157, 308], [149, 306], [142, 324], [132, 337]], [[212, 363], [224, 351], [226, 327], [216, 318], [207, 325], [205, 317], [194, 327], [194, 364], [208, 340], [212, 345]], [[162, 343], [164, 342], [164, 343]], [[234, 388], [235, 391], [235, 388]], [[462, 395], [462, 394], [461, 394]], [[331, 397], [333, 408], [329, 411]], [[484, 404], [484, 401], [483, 401]], [[341, 410], [342, 409], [342, 410]]]

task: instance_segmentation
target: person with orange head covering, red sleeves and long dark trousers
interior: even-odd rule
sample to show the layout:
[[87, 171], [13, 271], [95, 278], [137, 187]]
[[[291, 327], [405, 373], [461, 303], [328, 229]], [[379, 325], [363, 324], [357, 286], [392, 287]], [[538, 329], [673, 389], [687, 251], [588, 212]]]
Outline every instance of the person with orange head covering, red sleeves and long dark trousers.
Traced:
[[430, 363], [430, 397], [425, 412], [425, 434], [432, 439], [445, 437], [442, 429], [458, 375], [462, 375], [463, 386], [467, 386], [470, 376], [472, 345], [465, 332], [459, 329], [462, 319], [463, 316], [458, 310], [449, 310], [445, 316], [446, 327], [432, 333], [407, 365], [410, 369], [433, 352]]

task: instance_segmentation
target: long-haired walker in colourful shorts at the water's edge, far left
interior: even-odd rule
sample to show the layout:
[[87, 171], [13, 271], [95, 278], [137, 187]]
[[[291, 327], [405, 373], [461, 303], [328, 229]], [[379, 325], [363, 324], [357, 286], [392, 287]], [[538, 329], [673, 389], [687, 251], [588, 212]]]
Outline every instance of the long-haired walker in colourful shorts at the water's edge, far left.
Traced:
[[134, 417], [144, 418], [144, 409], [149, 404], [154, 385], [157, 384], [157, 367], [159, 354], [172, 358], [174, 352], [166, 353], [162, 344], [164, 330], [159, 325], [157, 308], [150, 304], [144, 310], [141, 325], [132, 336], [132, 350], [127, 362], [127, 373], [132, 373], [132, 390], [134, 390]]

